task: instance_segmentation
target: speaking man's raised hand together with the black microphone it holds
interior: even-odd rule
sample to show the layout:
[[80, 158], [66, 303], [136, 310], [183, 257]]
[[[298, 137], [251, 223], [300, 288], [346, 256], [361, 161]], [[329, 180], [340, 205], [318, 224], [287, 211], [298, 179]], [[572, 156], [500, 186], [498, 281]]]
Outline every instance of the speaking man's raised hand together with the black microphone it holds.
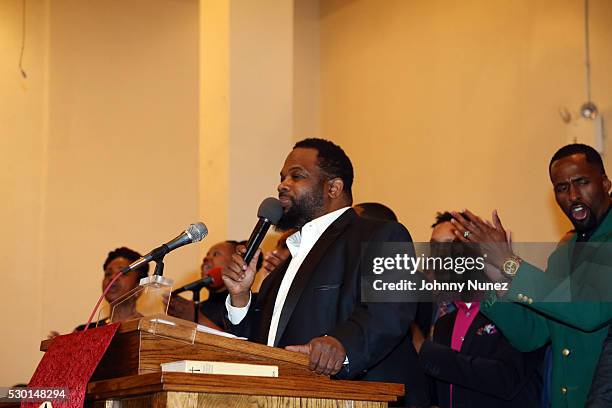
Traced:
[[259, 245], [268, 229], [280, 220], [283, 207], [276, 198], [266, 198], [257, 211], [259, 221], [253, 229], [246, 246], [239, 245], [232, 255], [232, 262], [223, 269], [223, 282], [231, 296], [233, 306], [244, 307], [248, 304], [251, 285], [257, 272]]

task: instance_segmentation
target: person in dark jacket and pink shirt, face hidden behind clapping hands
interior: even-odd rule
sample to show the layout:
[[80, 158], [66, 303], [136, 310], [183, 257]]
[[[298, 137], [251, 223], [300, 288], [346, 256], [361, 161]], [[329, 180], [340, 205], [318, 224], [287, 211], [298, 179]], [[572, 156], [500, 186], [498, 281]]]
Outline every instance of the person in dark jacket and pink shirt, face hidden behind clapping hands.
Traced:
[[[432, 255], [475, 258], [479, 254], [473, 247], [455, 240], [452, 218], [449, 212], [438, 213], [431, 234]], [[478, 274], [468, 271], [458, 276], [465, 280], [478, 279]], [[442, 279], [446, 280], [445, 276]], [[482, 293], [458, 295], [463, 300], [455, 300], [453, 308], [439, 316], [433, 340], [413, 337], [419, 362], [434, 378], [437, 405], [441, 408], [539, 406], [542, 379], [538, 369], [543, 350], [521, 353], [512, 347], [479, 312], [478, 299]]]

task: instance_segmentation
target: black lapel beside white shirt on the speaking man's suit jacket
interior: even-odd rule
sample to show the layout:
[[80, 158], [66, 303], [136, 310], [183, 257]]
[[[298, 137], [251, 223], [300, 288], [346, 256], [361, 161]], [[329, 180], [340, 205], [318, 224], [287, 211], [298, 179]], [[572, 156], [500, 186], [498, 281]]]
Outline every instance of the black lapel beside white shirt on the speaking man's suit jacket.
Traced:
[[283, 333], [285, 332], [287, 324], [291, 319], [293, 310], [298, 304], [300, 297], [302, 296], [302, 292], [308, 285], [310, 277], [321, 261], [321, 258], [323, 258], [331, 244], [338, 239], [340, 234], [342, 234], [344, 229], [355, 217], [357, 217], [357, 214], [352, 208], [346, 210], [336, 221], [327, 227], [325, 232], [323, 232], [321, 237], [317, 240], [302, 262], [300, 269], [291, 283], [289, 293], [287, 293], [287, 298], [285, 299], [285, 303], [283, 305], [283, 310], [281, 311], [280, 319], [278, 321], [278, 329], [276, 330], [276, 337], [274, 339], [275, 346], [278, 345], [280, 339], [283, 337]]

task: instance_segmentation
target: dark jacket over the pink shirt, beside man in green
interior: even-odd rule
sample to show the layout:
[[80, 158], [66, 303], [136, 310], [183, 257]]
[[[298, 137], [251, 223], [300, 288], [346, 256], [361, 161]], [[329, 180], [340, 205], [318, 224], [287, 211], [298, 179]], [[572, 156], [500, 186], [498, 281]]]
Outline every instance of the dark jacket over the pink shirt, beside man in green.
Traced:
[[453, 384], [453, 408], [539, 407], [544, 350], [521, 353], [478, 313], [457, 352], [451, 348], [456, 315], [454, 311], [436, 322], [433, 342], [423, 343], [419, 355], [425, 372], [435, 379], [438, 405], [449, 406]]

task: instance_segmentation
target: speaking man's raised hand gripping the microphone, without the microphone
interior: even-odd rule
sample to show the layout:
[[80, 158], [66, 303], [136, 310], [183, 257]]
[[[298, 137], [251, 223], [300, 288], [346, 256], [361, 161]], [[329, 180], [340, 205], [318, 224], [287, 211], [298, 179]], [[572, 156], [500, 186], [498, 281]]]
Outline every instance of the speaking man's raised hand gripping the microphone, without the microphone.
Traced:
[[235, 307], [245, 307], [249, 303], [251, 285], [253, 285], [257, 272], [257, 259], [261, 249], [255, 252], [255, 256], [253, 256], [249, 265], [244, 262], [245, 252], [246, 247], [238, 245], [236, 253], [232, 255], [232, 261], [223, 268], [222, 272], [223, 283], [225, 283], [225, 287], [230, 294], [232, 306]]

